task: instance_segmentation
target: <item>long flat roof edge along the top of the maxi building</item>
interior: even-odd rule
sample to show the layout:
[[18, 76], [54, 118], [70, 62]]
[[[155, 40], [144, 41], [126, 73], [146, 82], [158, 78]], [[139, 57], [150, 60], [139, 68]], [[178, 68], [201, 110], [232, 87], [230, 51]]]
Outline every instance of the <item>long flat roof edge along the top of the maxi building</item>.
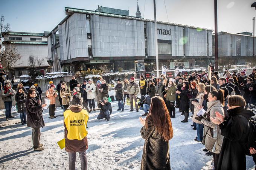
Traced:
[[[113, 13], [107, 13], [107, 12], [98, 12], [98, 11], [93, 11], [93, 10], [78, 9], [78, 8], [72, 8], [72, 7], [65, 7], [65, 11], [66, 11], [66, 14], [68, 14], [68, 15], [69, 15], [69, 13], [88, 13], [88, 14], [96, 14], [96, 15], [102, 15], [102, 16], [115, 17], [115, 18], [136, 19], [139, 21], [154, 22], [154, 20], [152, 20], [152, 19], [139, 18], [136, 16], [126, 16], [126, 15], [119, 15], [119, 14], [113, 14]], [[64, 20], [62, 22], [64, 22]], [[60, 24], [62, 24], [62, 22]], [[171, 23], [171, 22], [157, 21], [157, 23], [213, 31], [212, 29], [194, 27], [194, 26], [183, 25], [183, 24], [175, 24], [175, 23]]]

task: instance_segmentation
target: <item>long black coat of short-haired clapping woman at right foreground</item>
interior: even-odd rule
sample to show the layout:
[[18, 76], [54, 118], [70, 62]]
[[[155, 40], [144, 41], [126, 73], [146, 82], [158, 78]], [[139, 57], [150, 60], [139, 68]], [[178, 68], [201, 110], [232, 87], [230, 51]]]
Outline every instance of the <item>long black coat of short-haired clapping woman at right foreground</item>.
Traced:
[[248, 119], [253, 112], [243, 107], [227, 110], [229, 118], [219, 125], [224, 140], [219, 154], [217, 170], [245, 170], [245, 143], [248, 142], [250, 127]]

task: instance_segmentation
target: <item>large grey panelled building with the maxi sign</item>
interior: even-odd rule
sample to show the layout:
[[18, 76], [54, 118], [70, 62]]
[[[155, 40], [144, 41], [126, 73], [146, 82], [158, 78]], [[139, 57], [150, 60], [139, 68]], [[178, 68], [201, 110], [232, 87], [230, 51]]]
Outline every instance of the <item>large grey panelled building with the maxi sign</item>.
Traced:
[[[102, 6], [95, 11], [70, 7], [65, 11], [66, 18], [44, 34], [49, 57], [53, 60], [57, 54], [65, 71], [98, 69], [102, 64], [114, 71], [155, 69], [153, 20]], [[136, 15], [140, 16], [138, 6]], [[212, 31], [157, 21], [159, 63], [166, 67], [213, 63]]]

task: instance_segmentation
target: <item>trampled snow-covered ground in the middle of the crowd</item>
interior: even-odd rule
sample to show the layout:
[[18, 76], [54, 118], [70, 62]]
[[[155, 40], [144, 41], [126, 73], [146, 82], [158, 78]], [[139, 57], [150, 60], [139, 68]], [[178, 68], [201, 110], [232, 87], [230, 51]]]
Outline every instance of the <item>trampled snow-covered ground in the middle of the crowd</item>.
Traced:
[[[111, 103], [113, 113], [109, 122], [98, 120], [97, 112], [91, 112], [88, 121], [87, 159], [88, 170], [128, 170], [140, 169], [144, 140], [140, 136], [140, 110], [129, 112], [116, 111], [117, 102]], [[14, 109], [13, 109], [14, 110]], [[58, 107], [55, 115], [61, 115]], [[13, 114], [18, 122], [19, 115]], [[41, 128], [40, 142], [44, 151], [35, 152], [32, 149], [32, 129], [26, 125], [15, 124], [0, 128], [0, 169], [69, 169], [68, 154], [65, 149], [59, 149], [57, 142], [64, 137], [63, 116], [49, 119], [48, 110], [44, 110], [46, 127]], [[190, 115], [191, 116], [191, 115]], [[4, 110], [0, 110], [0, 123], [5, 120]], [[206, 156], [204, 146], [195, 142], [196, 131], [192, 130], [191, 117], [188, 123], [181, 123], [184, 116], [177, 111], [172, 119], [174, 137], [170, 140], [171, 168], [173, 170], [211, 170], [212, 157]], [[76, 157], [76, 167], [81, 169], [79, 156]], [[247, 169], [255, 168], [252, 157], [247, 157]]]

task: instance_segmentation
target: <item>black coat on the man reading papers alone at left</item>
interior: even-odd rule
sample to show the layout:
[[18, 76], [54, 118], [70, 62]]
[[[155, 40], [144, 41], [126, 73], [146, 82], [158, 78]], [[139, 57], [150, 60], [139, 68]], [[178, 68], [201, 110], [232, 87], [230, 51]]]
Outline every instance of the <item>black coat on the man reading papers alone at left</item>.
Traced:
[[45, 126], [43, 114], [42, 114], [42, 105], [34, 98], [27, 98], [26, 100], [26, 113], [27, 113], [27, 127], [40, 128]]

